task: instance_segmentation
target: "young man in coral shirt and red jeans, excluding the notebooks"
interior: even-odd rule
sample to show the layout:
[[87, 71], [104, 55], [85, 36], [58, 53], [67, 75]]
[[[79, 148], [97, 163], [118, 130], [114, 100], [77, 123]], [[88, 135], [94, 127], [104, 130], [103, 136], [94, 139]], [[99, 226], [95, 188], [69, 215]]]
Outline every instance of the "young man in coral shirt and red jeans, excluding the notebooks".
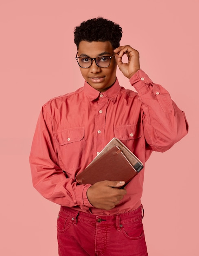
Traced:
[[[140, 200], [144, 169], [124, 189], [117, 188], [123, 181], [80, 185], [75, 178], [113, 137], [145, 163], [152, 150], [168, 150], [188, 130], [184, 112], [140, 70], [138, 51], [119, 45], [121, 36], [121, 27], [103, 18], [76, 27], [84, 86], [48, 101], [37, 122], [33, 185], [61, 205], [60, 256], [147, 256]], [[124, 54], [128, 63], [122, 63]], [[138, 93], [120, 87], [117, 65]]]

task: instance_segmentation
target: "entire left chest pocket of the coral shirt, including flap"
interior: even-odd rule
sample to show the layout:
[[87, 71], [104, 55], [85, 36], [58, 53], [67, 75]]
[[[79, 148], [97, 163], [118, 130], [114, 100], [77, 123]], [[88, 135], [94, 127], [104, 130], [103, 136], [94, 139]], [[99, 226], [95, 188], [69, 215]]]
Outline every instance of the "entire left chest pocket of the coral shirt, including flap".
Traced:
[[68, 177], [74, 176], [84, 161], [85, 139], [84, 128], [74, 127], [55, 132], [59, 164]]

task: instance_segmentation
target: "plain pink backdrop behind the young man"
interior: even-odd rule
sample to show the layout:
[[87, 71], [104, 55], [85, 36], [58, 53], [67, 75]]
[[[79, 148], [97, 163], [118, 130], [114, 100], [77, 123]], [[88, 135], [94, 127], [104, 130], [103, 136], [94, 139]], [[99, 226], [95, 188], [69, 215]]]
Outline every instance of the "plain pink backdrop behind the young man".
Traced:
[[83, 85], [74, 27], [103, 16], [120, 24], [121, 45], [138, 49], [141, 68], [170, 92], [190, 125], [184, 139], [146, 164], [149, 256], [198, 256], [199, 2], [67, 2], [0, 0], [0, 255], [57, 255], [59, 206], [33, 189], [28, 156], [42, 105]]

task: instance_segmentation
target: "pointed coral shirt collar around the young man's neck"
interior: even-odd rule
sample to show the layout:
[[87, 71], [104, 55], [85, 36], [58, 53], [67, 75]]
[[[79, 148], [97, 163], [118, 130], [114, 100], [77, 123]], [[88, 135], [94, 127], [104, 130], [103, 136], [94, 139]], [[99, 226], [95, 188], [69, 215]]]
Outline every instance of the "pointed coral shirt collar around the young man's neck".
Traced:
[[107, 99], [115, 103], [116, 97], [118, 96], [120, 89], [121, 88], [117, 78], [115, 83], [105, 92], [99, 92], [98, 90], [93, 88], [91, 85], [89, 85], [87, 81], [84, 82], [84, 91], [90, 101], [94, 101], [99, 97], [99, 94], [103, 94], [105, 97], [107, 97]]

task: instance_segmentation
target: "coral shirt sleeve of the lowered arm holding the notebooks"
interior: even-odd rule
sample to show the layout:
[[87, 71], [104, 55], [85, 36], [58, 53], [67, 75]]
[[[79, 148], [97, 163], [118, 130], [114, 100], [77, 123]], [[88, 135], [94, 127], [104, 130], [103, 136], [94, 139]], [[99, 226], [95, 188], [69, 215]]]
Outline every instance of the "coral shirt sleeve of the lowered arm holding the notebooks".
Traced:
[[46, 108], [44, 105], [39, 115], [29, 157], [33, 186], [52, 202], [87, 210], [93, 207], [86, 195], [91, 185], [79, 185], [73, 179], [66, 178], [59, 167], [52, 122]]

